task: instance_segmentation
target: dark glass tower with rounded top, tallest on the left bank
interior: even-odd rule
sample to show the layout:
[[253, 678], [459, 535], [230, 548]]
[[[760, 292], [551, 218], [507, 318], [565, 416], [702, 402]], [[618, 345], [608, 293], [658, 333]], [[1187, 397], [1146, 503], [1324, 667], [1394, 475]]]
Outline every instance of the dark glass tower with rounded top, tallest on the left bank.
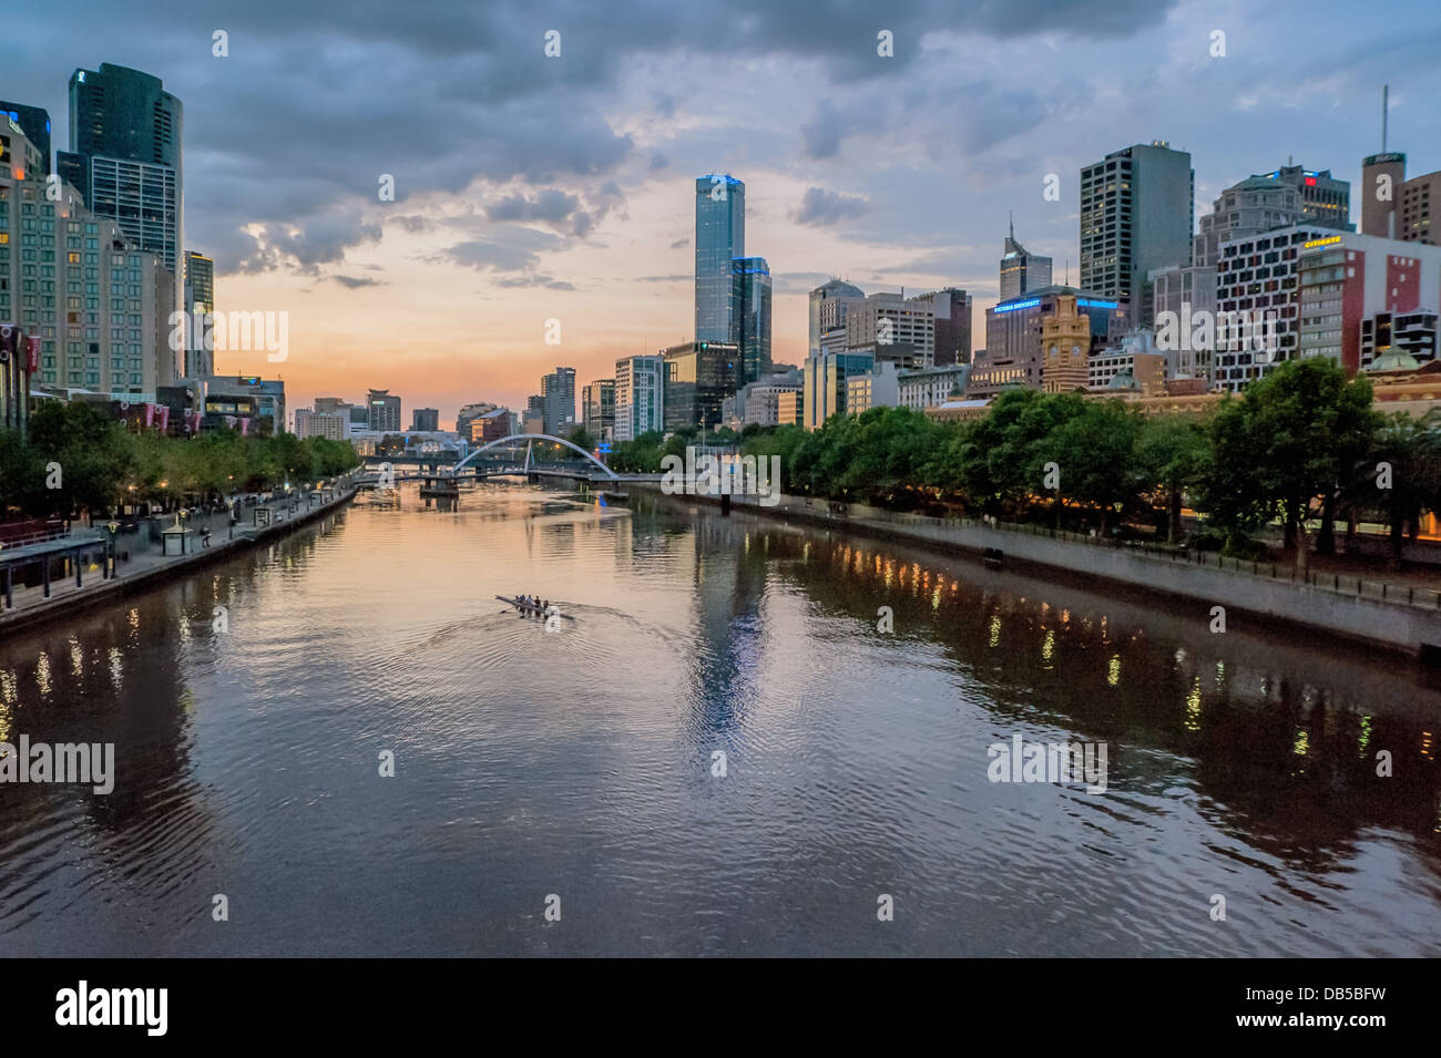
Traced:
[[184, 108], [160, 78], [102, 62], [71, 75], [71, 150], [56, 154], [61, 177], [91, 212], [157, 253], [184, 302]]

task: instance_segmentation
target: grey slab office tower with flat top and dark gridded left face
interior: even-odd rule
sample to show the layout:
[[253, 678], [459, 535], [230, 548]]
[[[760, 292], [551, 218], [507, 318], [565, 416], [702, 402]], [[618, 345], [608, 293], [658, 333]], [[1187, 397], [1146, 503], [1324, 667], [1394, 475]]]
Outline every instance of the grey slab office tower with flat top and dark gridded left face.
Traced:
[[1151, 322], [1147, 273], [1190, 261], [1196, 223], [1190, 154], [1134, 144], [1081, 170], [1081, 286]]

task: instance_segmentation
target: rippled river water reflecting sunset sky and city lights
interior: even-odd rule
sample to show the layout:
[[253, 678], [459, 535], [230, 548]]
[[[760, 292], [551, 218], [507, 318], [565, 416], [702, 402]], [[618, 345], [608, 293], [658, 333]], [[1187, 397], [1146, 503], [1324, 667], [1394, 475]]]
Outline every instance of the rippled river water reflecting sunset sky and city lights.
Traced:
[[[360, 504], [0, 642], [0, 740], [117, 772], [0, 785], [0, 953], [1441, 954], [1441, 694], [1187, 609], [669, 499]], [[991, 782], [1017, 737], [1105, 790]]]

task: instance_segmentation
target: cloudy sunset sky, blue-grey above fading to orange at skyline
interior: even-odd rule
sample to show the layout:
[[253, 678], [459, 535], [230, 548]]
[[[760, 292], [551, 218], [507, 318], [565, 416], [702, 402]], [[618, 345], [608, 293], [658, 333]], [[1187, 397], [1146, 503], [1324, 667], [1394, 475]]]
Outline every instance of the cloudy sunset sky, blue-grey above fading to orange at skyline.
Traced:
[[1441, 168], [1438, 52], [1435, 0], [61, 0], [7, 13], [0, 98], [48, 108], [63, 148], [72, 71], [159, 76], [216, 308], [288, 312], [284, 363], [216, 371], [278, 374], [291, 409], [389, 389], [406, 425], [450, 426], [693, 337], [697, 176], [746, 184], [777, 361], [833, 275], [963, 286], [980, 347], [1007, 214], [1076, 282], [1079, 170], [1110, 151], [1190, 151], [1197, 217], [1294, 158], [1352, 181], [1356, 222], [1389, 83], [1389, 148]]

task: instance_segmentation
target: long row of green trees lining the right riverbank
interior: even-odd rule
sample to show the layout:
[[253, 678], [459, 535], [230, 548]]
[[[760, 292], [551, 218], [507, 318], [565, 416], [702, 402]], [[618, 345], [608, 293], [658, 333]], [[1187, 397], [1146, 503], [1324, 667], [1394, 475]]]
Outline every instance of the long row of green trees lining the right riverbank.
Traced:
[[[738, 440], [745, 455], [780, 455], [791, 494], [945, 504], [1099, 533], [1154, 527], [1170, 543], [1180, 543], [1189, 507], [1232, 554], [1255, 553], [1261, 531], [1280, 523], [1303, 569], [1314, 547], [1331, 550], [1333, 520], [1389, 523], [1399, 554], [1422, 514], [1441, 510], [1441, 419], [1382, 416], [1369, 380], [1321, 358], [1280, 364], [1205, 417], [1016, 389], [965, 422], [876, 407], [814, 432], [748, 428]], [[646, 435], [617, 445], [611, 465], [656, 471], [687, 443]], [[1307, 521], [1317, 517], [1313, 543]]]

